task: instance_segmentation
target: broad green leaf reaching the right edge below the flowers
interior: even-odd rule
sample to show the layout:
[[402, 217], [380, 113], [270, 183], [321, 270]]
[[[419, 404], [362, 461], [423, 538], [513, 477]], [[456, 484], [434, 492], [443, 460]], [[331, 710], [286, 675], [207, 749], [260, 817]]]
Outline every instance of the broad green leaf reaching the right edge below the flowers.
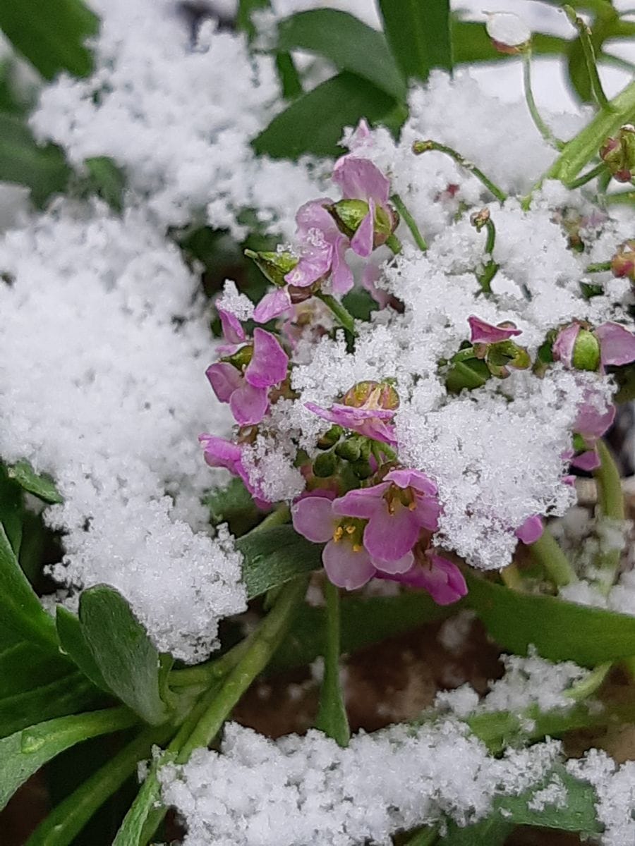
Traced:
[[504, 650], [527, 655], [530, 645], [550, 661], [595, 667], [635, 655], [635, 617], [511, 591], [466, 571], [464, 602]]

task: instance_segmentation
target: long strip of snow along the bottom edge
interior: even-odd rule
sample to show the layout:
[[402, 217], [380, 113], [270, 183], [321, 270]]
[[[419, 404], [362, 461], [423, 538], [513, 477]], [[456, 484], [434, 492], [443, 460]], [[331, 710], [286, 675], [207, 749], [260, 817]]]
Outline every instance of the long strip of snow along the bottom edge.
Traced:
[[184, 846], [356, 846], [450, 816], [465, 826], [500, 794], [544, 778], [554, 741], [502, 758], [454, 720], [360, 733], [346, 749], [311, 730], [273, 741], [235, 723], [221, 753], [196, 750], [160, 772], [163, 799], [188, 827]]

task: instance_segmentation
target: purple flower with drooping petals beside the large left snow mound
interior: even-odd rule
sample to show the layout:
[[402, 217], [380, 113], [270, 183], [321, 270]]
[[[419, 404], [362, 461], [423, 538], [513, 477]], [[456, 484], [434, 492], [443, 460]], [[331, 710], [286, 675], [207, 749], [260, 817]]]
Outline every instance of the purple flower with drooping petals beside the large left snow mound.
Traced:
[[220, 402], [229, 403], [236, 422], [253, 426], [267, 413], [269, 388], [286, 378], [289, 357], [271, 332], [257, 328], [251, 346], [241, 347], [233, 358], [239, 360], [210, 365], [206, 376]]

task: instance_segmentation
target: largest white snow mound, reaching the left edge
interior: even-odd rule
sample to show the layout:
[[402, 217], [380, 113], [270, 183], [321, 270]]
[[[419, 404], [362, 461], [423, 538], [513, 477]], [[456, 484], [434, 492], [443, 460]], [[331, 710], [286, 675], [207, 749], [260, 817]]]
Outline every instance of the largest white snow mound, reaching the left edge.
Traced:
[[8, 232], [0, 272], [0, 455], [64, 497], [46, 513], [65, 533], [54, 578], [113, 585], [161, 650], [206, 656], [245, 591], [227, 534], [193, 530], [219, 478], [196, 437], [229, 431], [196, 277], [141, 212], [69, 205]]

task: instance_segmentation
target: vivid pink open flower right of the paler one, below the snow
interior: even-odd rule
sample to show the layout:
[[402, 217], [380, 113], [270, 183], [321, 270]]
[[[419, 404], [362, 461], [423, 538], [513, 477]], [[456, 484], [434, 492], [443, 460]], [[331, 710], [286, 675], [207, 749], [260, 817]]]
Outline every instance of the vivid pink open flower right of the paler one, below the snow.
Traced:
[[436, 494], [437, 486], [420, 470], [391, 470], [378, 485], [334, 500], [333, 511], [368, 521], [364, 547], [385, 570], [387, 564], [404, 560], [422, 529], [437, 530], [441, 507]]

